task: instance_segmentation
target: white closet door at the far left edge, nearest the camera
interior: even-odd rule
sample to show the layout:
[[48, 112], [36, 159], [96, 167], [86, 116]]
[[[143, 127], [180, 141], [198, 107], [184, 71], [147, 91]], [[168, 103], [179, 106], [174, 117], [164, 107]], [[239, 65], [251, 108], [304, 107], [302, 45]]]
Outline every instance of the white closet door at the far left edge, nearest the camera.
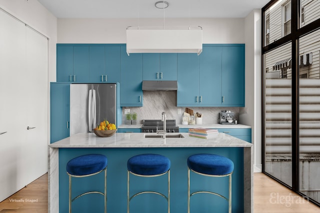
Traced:
[[25, 140], [23, 72], [25, 25], [0, 11], [0, 201], [24, 185], [17, 179], [19, 146]]

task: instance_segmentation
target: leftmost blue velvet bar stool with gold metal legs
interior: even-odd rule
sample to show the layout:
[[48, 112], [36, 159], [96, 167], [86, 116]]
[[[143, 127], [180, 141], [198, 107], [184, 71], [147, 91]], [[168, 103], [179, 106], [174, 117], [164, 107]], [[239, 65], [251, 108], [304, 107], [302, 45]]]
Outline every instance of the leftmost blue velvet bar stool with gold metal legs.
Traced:
[[[69, 213], [72, 210], [72, 202], [87, 194], [100, 194], [104, 196], [104, 213], [106, 213], [106, 167], [107, 167], [107, 158], [104, 155], [99, 154], [89, 154], [82, 155], [76, 158], [71, 159], [66, 164], [66, 173], [69, 176]], [[72, 199], [72, 177], [73, 178], [84, 178], [92, 175], [99, 174], [104, 171], [104, 193], [92, 191], [82, 193]]]

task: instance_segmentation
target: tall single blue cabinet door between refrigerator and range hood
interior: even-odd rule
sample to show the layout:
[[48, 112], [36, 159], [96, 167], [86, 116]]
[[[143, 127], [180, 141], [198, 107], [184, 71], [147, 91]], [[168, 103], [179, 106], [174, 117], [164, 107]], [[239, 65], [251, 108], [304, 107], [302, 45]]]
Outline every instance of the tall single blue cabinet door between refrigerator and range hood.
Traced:
[[126, 53], [121, 46], [120, 106], [142, 106], [142, 54]]

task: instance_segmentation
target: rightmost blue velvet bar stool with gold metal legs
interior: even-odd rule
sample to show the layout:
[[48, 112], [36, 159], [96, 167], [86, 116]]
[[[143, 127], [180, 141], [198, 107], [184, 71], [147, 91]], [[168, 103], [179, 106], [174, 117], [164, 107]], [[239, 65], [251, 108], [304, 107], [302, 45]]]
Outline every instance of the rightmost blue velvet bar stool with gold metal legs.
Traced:
[[[190, 213], [190, 197], [199, 193], [207, 193], [219, 196], [229, 203], [229, 213], [231, 213], [231, 174], [234, 169], [233, 162], [223, 156], [213, 154], [191, 155], [187, 159], [188, 165], [188, 213]], [[226, 177], [229, 176], [229, 197], [208, 191], [197, 191], [190, 194], [190, 171], [209, 177]]]

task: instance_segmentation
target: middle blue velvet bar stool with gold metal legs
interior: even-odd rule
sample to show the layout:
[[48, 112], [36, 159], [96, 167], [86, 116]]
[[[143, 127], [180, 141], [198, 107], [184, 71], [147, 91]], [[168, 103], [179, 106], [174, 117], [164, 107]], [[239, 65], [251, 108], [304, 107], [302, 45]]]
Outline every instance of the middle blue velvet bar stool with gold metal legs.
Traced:
[[[166, 199], [168, 203], [168, 213], [170, 213], [170, 160], [162, 155], [156, 154], [142, 154], [131, 157], [127, 161], [127, 213], [129, 213], [129, 204], [132, 198], [135, 196], [152, 193], [160, 195]], [[158, 177], [168, 174], [168, 195], [167, 197], [162, 193], [143, 191], [130, 196], [130, 181], [129, 175], [135, 175], [139, 177]]]

